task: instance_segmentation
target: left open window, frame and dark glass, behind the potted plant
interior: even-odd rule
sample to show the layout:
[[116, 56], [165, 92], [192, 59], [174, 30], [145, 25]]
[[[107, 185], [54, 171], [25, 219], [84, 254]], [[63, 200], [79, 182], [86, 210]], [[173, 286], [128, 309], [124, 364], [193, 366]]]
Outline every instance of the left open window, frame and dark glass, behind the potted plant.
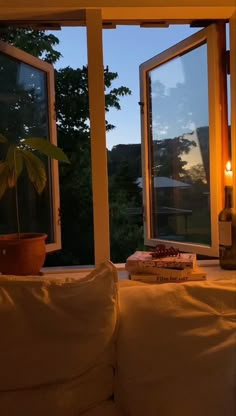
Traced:
[[[3, 42], [0, 42], [0, 105], [0, 134], [9, 141], [41, 137], [56, 144], [52, 65]], [[47, 185], [41, 195], [24, 172], [19, 178], [20, 231], [46, 233], [47, 251], [52, 251], [61, 246], [58, 165], [47, 158], [44, 162]], [[14, 188], [8, 190], [0, 200], [0, 234], [17, 231], [14, 192]]]

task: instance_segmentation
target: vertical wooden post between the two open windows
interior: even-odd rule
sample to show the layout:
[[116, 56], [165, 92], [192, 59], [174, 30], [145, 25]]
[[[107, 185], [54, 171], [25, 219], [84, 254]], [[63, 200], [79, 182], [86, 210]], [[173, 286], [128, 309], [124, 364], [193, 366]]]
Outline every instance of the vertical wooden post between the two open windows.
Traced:
[[86, 11], [95, 264], [110, 259], [102, 17]]

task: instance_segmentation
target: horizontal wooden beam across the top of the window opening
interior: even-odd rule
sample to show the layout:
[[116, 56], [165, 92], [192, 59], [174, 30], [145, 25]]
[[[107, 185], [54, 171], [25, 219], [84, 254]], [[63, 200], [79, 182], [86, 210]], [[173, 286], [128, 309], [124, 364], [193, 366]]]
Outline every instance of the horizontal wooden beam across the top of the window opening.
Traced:
[[[229, 19], [235, 12], [235, 0], [206, 0], [199, 2], [192, 0], [191, 5], [184, 4], [180, 0], [165, 0], [165, 1], [136, 1], [132, 5], [132, 1], [125, 1], [125, 4], [117, 1], [115, 5], [109, 2], [100, 2], [96, 4], [96, 8], [101, 10], [102, 20], [119, 21], [119, 24], [125, 24], [126, 21], [142, 21], [142, 20], [215, 20], [215, 19]], [[96, 1], [98, 3], [98, 1]], [[105, 4], [106, 3], [106, 4]], [[108, 4], [109, 3], [109, 4]], [[123, 2], [124, 3], [124, 2]], [[164, 4], [165, 3], [165, 4]], [[205, 4], [201, 4], [205, 3]], [[48, 0], [41, 0], [33, 2], [29, 0], [0, 0], [0, 20], [1, 21], [58, 21], [66, 22], [78, 21], [77, 14], [83, 10], [93, 10], [90, 1], [78, 0], [51, 0], [50, 7]], [[73, 19], [74, 14], [74, 19]], [[80, 19], [79, 19], [80, 20]]]

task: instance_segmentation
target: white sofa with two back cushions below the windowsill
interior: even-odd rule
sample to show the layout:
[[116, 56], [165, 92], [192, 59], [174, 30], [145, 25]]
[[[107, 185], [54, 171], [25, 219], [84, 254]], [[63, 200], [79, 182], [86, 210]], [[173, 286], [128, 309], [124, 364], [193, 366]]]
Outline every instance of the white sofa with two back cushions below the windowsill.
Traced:
[[235, 280], [0, 277], [1, 416], [235, 416]]

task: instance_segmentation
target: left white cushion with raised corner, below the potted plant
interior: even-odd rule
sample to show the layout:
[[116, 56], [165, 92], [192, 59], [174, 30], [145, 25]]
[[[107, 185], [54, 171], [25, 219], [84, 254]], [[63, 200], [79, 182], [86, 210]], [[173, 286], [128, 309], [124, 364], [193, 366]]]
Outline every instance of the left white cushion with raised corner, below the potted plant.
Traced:
[[0, 414], [78, 416], [113, 394], [117, 273], [0, 277]]

